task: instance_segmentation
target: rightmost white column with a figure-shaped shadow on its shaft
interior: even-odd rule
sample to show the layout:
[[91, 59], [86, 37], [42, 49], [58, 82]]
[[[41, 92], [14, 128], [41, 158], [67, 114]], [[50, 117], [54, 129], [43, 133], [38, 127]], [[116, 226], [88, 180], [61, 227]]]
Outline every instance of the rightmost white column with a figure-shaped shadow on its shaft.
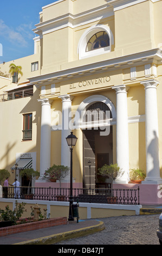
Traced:
[[142, 81], [145, 87], [146, 178], [142, 183], [160, 184], [157, 80]]

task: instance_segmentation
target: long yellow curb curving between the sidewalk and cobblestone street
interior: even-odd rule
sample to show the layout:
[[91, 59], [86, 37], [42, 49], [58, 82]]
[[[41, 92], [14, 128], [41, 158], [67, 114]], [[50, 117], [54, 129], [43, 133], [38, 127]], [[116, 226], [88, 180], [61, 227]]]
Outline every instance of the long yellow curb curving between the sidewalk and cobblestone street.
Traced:
[[73, 238], [77, 238], [77, 237], [85, 236], [85, 235], [90, 235], [90, 234], [96, 233], [98, 231], [101, 231], [103, 229], [105, 229], [105, 225], [103, 224], [102, 221], [99, 221], [99, 224], [90, 226], [88, 228], [81, 228], [81, 229], [68, 231], [65, 233], [44, 236], [44, 237], [34, 239], [34, 240], [24, 241], [24, 242], [20, 242], [20, 243], [14, 243], [14, 245], [51, 245], [51, 244], [54, 244], [54, 243], [57, 243], [57, 242], [60, 242], [63, 240], [73, 239]]

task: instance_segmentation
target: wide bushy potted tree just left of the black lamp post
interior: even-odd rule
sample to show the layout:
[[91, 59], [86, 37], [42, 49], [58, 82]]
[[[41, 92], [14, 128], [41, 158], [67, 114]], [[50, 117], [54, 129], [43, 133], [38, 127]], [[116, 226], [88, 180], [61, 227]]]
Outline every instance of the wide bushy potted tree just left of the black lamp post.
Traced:
[[43, 174], [42, 179], [56, 179], [60, 182], [60, 196], [57, 197], [57, 200], [63, 200], [63, 196], [61, 195], [61, 180], [65, 178], [69, 173], [70, 168], [68, 166], [56, 165], [54, 164]]

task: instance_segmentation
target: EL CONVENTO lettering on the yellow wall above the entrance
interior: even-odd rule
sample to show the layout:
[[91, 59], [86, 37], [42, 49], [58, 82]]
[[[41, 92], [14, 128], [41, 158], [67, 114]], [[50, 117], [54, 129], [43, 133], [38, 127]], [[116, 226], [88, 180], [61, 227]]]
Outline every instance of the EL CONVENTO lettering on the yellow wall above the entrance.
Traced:
[[90, 79], [90, 80], [83, 80], [79, 83], [70, 83], [70, 89], [74, 89], [76, 87], [87, 87], [87, 86], [95, 86], [98, 84], [103, 84], [106, 82], [109, 82], [111, 80], [111, 78], [109, 76], [104, 76], [104, 77], [99, 77], [99, 78], [94, 78], [94, 79]]

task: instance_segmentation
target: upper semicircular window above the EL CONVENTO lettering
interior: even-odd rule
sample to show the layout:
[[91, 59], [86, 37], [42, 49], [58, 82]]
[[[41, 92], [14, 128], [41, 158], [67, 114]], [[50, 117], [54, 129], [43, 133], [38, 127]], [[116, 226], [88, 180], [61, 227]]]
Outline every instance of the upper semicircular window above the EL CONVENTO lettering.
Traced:
[[88, 41], [86, 52], [109, 46], [109, 36], [105, 31], [94, 34]]

